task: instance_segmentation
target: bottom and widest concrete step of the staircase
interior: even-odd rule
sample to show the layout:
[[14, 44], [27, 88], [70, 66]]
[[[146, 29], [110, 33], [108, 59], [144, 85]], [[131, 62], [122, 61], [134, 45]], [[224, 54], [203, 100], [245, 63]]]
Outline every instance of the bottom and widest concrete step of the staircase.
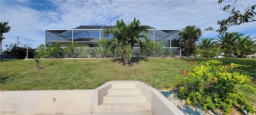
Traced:
[[148, 102], [103, 102], [99, 107], [104, 111], [147, 111], [151, 110]]

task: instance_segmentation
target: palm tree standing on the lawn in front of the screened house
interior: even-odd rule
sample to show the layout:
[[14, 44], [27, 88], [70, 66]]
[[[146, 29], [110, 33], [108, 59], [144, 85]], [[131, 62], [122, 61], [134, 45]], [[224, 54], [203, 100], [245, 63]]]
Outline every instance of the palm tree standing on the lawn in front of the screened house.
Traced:
[[123, 20], [116, 21], [116, 28], [107, 28], [103, 31], [104, 38], [107, 38], [110, 34], [113, 38], [108, 43], [110, 48], [114, 50], [116, 54], [122, 55], [124, 64], [128, 65], [131, 63], [132, 49], [134, 44], [138, 44], [140, 47], [143, 46], [142, 38], [148, 39], [149, 27], [146, 25], [140, 25], [140, 20], [130, 22], [128, 25]]

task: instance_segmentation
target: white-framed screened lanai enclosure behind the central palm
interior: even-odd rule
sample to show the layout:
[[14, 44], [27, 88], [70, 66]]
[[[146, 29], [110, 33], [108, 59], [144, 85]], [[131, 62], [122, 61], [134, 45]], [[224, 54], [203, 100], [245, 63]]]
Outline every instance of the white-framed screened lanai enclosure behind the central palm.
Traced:
[[[97, 42], [103, 39], [111, 39], [113, 36], [108, 36], [104, 38], [102, 32], [106, 28], [114, 29], [115, 26], [78, 26], [73, 29], [47, 29], [45, 30], [45, 44], [44, 48], [47, 45], [52, 43], [61, 44], [61, 48], [66, 47], [67, 42], [77, 41], [79, 47], [90, 46], [90, 50], [94, 50], [97, 47]], [[154, 41], [158, 44], [164, 43], [163, 48], [166, 48], [168, 52], [177, 52], [176, 56], [181, 56], [181, 49], [179, 42], [178, 29], [156, 29], [149, 26], [149, 38], [151, 41]], [[136, 56], [135, 52], [138, 52], [138, 45], [134, 46], [132, 56]]]

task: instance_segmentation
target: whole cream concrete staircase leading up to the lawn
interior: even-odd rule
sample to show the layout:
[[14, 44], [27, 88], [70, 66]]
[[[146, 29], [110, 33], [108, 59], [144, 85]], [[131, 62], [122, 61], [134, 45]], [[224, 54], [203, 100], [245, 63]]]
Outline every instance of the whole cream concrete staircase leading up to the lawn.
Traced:
[[112, 83], [99, 106], [106, 111], [151, 111], [151, 104], [146, 102], [136, 83]]

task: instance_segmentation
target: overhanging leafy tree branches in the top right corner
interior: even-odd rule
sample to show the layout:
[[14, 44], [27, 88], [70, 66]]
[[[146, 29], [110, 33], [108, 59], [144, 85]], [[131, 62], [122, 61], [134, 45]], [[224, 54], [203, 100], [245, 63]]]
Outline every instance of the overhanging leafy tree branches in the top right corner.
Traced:
[[[221, 4], [224, 0], [219, 0], [218, 4]], [[247, 22], [254, 22], [256, 21], [255, 16], [256, 16], [256, 12], [255, 12], [255, 8], [256, 8], [256, 4], [252, 5], [252, 6], [246, 6], [244, 7], [241, 4], [241, 9], [237, 8], [237, 3], [238, 0], [235, 0], [233, 3], [225, 5], [224, 7], [221, 7], [220, 9], [223, 10], [224, 12], [228, 12], [231, 14], [231, 16], [229, 16], [227, 19], [223, 19], [223, 20], [218, 20], [217, 24], [220, 25], [220, 28], [218, 30], [215, 30], [215, 28], [213, 27], [208, 27], [205, 29], [205, 31], [208, 30], [214, 30], [216, 32], [219, 32], [220, 34], [224, 34], [229, 27], [231, 26], [236, 26], [236, 25], [240, 25], [243, 23], [247, 23]]]

